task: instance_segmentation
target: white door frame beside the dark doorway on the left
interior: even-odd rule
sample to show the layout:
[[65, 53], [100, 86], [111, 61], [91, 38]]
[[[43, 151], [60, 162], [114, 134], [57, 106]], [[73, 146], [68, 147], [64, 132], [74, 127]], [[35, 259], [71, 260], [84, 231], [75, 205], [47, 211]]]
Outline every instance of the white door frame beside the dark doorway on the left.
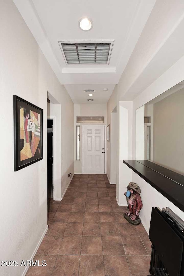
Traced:
[[[53, 124], [52, 124], [52, 127], [53, 127], [53, 132], [52, 132], [52, 143], [53, 143], [53, 168], [52, 168], [52, 172], [53, 172], [53, 175], [52, 175], [52, 178], [53, 178], [53, 200], [57, 200], [56, 198], [56, 135], [55, 135], [55, 130], [56, 130], [56, 116], [48, 116], [47, 115], [47, 119], [49, 120], [52, 120]], [[48, 168], [47, 168], [48, 169]]]

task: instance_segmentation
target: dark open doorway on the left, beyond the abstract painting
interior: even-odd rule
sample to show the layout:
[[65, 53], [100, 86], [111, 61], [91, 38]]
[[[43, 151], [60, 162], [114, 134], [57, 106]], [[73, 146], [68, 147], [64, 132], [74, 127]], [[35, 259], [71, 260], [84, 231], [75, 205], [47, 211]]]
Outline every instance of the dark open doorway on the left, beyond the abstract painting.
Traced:
[[53, 199], [53, 120], [51, 119], [47, 119], [47, 198]]

